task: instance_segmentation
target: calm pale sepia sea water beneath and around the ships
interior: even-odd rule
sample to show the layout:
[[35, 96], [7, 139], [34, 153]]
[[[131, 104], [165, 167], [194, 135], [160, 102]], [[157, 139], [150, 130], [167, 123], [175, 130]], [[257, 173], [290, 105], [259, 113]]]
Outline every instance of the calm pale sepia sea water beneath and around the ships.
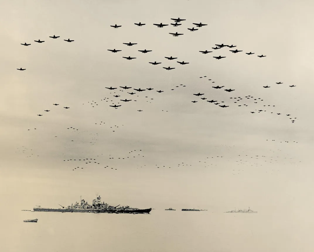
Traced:
[[314, 251], [312, 229], [280, 214], [16, 211], [1, 216], [1, 227], [3, 252]]

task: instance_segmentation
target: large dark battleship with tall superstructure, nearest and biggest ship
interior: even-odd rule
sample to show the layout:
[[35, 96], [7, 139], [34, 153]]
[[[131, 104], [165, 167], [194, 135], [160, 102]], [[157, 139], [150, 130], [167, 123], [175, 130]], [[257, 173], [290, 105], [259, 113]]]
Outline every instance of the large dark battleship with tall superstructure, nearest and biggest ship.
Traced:
[[[71, 206], [64, 207], [58, 204], [62, 208], [42, 208], [41, 206], [33, 208], [35, 212], [61, 212], [61, 213], [149, 213], [152, 208], [138, 209], [126, 207], [116, 207], [108, 205], [108, 203], [101, 202], [101, 197], [97, 195], [97, 198], [93, 200], [92, 205], [89, 205], [87, 201], [82, 199], [81, 203], [75, 202]], [[119, 207], [119, 208], [118, 208]]]

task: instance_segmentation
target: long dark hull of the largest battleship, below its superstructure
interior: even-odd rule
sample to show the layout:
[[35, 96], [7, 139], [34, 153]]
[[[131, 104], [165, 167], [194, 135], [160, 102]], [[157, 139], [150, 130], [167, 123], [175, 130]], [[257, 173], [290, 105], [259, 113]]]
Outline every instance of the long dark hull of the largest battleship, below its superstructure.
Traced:
[[35, 212], [61, 212], [61, 213], [149, 213], [152, 208], [148, 209], [130, 209], [130, 210], [106, 210], [106, 209], [89, 209], [89, 208], [34, 208]]

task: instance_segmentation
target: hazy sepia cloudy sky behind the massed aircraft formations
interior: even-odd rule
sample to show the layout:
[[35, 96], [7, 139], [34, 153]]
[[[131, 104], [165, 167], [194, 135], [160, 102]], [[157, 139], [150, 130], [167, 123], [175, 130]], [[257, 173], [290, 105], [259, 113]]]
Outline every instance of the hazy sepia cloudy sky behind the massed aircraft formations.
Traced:
[[[310, 211], [311, 5], [3, 2], [2, 203], [15, 197], [12, 204], [21, 208], [54, 208], [80, 195], [91, 203], [98, 193], [111, 205], [140, 208], [298, 211], [306, 204]], [[186, 20], [172, 26], [170, 18], [178, 17]], [[200, 22], [207, 25], [187, 29]], [[169, 34], [175, 32], [183, 35]], [[60, 38], [49, 38], [54, 34]], [[137, 44], [122, 44], [129, 42]], [[215, 44], [236, 47], [212, 49]], [[138, 51], [144, 49], [152, 51]], [[213, 58], [219, 55], [226, 58]], [[128, 56], [136, 59], [122, 58]], [[149, 64], [154, 61], [161, 64]], [[162, 68], [169, 66], [175, 69]], [[217, 85], [224, 88], [212, 88]]]

